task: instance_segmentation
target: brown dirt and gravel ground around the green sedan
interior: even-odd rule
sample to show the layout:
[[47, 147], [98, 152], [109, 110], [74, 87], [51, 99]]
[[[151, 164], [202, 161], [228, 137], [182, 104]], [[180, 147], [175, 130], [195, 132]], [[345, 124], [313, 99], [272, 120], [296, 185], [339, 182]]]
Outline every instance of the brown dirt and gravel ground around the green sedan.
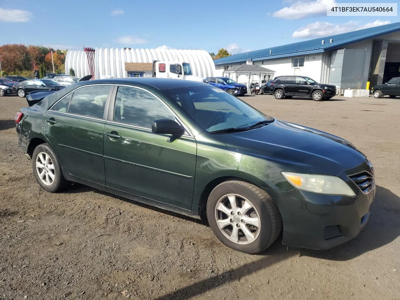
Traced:
[[330, 250], [230, 250], [211, 229], [75, 184], [49, 194], [18, 148], [25, 99], [0, 98], [0, 299], [400, 299], [400, 98], [242, 97], [353, 142], [376, 169], [366, 228]]

